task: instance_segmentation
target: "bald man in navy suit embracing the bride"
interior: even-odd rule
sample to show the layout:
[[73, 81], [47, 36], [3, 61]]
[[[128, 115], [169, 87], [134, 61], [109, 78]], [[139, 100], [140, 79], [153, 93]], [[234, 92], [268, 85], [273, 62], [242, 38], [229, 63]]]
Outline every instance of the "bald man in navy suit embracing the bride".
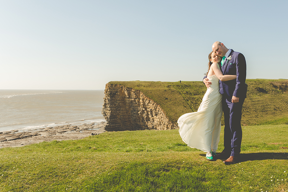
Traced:
[[[223, 57], [220, 69], [223, 75], [237, 75], [237, 78], [231, 81], [219, 81], [220, 93], [222, 94], [222, 108], [224, 112], [224, 150], [215, 155], [226, 165], [237, 161], [240, 154], [242, 141], [241, 116], [242, 106], [246, 98], [247, 85], [246, 80], [246, 61], [242, 53], [227, 49], [219, 41], [213, 43], [212, 51], [218, 56]], [[207, 77], [203, 79], [206, 87], [210, 87], [211, 82]]]

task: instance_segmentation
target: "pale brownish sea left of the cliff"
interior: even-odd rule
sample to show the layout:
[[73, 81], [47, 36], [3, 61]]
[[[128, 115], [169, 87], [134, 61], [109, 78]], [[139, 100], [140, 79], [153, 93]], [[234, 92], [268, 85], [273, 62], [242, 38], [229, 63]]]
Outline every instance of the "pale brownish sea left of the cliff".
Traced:
[[0, 90], [0, 132], [101, 123], [104, 90]]

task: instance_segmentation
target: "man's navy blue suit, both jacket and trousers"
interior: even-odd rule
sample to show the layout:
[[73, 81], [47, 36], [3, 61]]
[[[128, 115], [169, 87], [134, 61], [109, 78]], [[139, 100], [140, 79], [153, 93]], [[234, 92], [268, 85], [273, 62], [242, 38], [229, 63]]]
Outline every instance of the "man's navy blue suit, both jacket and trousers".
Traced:
[[[228, 60], [231, 56], [231, 60]], [[242, 141], [241, 116], [242, 106], [246, 98], [246, 61], [242, 53], [231, 50], [224, 60], [221, 71], [223, 75], [237, 75], [230, 81], [219, 81], [220, 93], [222, 94], [222, 108], [224, 112], [224, 150], [237, 156], [240, 153]], [[206, 77], [204, 77], [206, 78]], [[239, 102], [232, 103], [232, 96], [239, 97]]]

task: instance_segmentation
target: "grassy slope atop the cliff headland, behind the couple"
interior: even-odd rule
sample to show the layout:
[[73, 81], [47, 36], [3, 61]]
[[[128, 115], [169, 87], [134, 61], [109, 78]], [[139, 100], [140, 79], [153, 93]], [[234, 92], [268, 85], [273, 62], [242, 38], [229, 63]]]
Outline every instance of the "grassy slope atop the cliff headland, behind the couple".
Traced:
[[[142, 91], [161, 105], [172, 122], [184, 113], [197, 111], [206, 87], [202, 82], [117, 81]], [[288, 80], [247, 79], [247, 98], [243, 105], [242, 124], [288, 124]], [[165, 99], [166, 98], [166, 99]], [[223, 120], [223, 118], [222, 118]]]

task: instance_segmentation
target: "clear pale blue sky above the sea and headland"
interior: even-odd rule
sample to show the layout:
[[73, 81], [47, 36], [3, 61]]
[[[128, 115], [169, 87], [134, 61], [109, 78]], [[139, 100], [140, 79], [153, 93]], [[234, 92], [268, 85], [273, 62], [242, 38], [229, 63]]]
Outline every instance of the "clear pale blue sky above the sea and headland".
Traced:
[[288, 1], [0, 0], [0, 89], [201, 81], [215, 41], [288, 79]]

